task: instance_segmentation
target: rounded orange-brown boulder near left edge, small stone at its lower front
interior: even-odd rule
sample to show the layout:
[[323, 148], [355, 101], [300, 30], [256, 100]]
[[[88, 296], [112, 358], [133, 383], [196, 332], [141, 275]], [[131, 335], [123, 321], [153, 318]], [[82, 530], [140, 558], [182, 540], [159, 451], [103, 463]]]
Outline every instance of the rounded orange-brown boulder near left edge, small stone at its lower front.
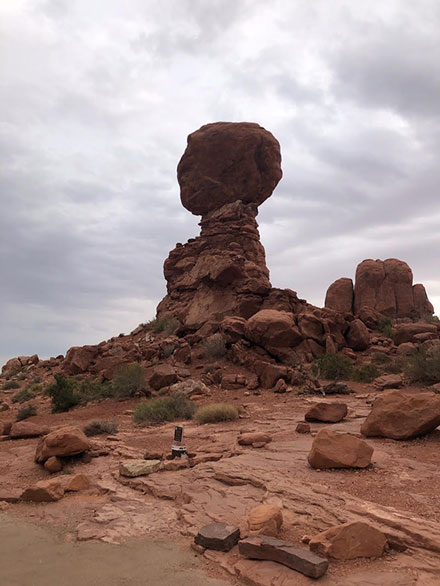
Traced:
[[62, 427], [38, 442], [35, 461], [44, 462], [51, 456], [75, 456], [90, 448], [90, 441], [78, 427]]

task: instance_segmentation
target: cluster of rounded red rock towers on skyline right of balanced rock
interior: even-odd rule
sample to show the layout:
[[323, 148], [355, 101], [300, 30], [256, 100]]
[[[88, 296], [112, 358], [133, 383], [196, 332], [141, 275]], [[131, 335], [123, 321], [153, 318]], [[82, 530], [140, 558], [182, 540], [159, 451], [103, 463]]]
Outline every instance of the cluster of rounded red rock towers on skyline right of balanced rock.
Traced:
[[434, 313], [425, 288], [413, 285], [413, 274], [406, 262], [396, 258], [367, 259], [351, 279], [338, 279], [327, 290], [325, 307], [359, 315], [368, 308], [389, 317], [420, 318]]

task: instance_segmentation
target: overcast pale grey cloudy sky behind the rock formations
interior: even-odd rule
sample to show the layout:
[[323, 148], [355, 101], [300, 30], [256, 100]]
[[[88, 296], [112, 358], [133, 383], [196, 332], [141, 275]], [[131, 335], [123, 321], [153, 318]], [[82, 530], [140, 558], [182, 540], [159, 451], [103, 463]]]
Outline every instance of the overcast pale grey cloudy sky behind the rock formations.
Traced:
[[258, 122], [284, 177], [271, 281], [322, 306], [397, 257], [440, 311], [438, 0], [1, 0], [0, 364], [154, 317], [199, 233], [186, 136]]

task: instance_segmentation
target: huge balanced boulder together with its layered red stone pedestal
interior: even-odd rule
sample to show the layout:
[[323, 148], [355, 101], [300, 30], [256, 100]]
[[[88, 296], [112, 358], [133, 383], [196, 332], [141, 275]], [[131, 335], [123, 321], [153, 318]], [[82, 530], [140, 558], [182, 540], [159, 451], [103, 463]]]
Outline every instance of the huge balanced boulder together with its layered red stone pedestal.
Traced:
[[201, 234], [165, 261], [158, 314], [197, 329], [260, 309], [271, 283], [255, 218], [281, 176], [279, 143], [258, 124], [207, 124], [188, 137], [178, 180], [184, 207], [202, 215]]

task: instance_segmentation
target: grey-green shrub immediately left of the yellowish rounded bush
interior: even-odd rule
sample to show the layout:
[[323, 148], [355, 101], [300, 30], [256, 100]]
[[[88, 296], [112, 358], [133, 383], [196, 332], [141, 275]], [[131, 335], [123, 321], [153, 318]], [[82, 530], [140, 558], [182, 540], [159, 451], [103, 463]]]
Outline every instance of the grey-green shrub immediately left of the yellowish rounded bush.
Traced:
[[192, 419], [194, 404], [183, 393], [173, 393], [168, 397], [158, 397], [148, 403], [142, 401], [134, 408], [135, 423], [162, 423], [175, 419]]

